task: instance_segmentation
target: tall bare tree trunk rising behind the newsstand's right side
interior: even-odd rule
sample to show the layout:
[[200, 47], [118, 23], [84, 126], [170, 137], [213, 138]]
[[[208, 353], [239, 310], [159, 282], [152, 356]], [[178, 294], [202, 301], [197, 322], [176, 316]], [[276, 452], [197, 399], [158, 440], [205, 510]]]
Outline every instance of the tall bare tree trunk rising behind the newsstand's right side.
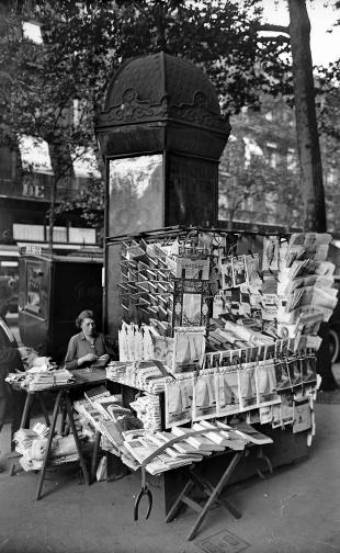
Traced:
[[327, 227], [326, 205], [309, 44], [310, 23], [305, 0], [288, 0], [288, 8], [304, 229], [324, 233]]

